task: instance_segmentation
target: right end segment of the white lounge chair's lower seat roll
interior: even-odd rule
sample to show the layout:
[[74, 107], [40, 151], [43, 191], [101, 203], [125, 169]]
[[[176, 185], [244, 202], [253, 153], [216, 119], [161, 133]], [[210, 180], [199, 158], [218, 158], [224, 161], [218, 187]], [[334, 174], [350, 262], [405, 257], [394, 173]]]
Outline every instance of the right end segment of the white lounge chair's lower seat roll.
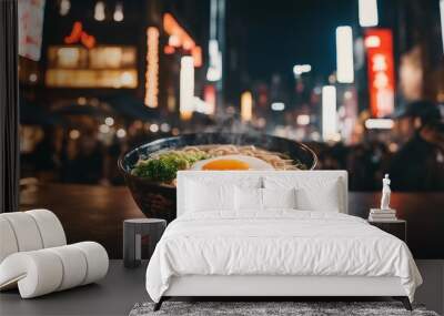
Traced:
[[102, 245], [94, 242], [82, 242], [71, 246], [81, 249], [87, 258], [87, 275], [82, 285], [95, 282], [108, 273], [108, 253]]

